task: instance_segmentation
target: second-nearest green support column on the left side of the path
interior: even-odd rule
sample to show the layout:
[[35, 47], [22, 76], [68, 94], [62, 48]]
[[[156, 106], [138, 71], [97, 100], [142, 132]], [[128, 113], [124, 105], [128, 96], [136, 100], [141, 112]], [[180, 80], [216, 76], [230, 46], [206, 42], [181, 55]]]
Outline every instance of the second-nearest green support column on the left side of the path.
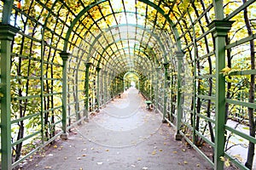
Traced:
[[62, 59], [62, 134], [61, 139], [67, 139], [67, 52], [60, 53]]

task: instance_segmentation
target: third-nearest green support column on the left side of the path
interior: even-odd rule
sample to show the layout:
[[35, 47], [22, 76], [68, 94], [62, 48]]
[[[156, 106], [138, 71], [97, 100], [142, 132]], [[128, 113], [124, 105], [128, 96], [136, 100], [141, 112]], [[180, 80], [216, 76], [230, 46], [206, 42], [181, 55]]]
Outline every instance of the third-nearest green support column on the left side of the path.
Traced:
[[85, 82], [84, 82], [84, 91], [85, 91], [85, 103], [84, 103], [84, 121], [89, 121], [89, 69], [92, 63], [85, 63]]

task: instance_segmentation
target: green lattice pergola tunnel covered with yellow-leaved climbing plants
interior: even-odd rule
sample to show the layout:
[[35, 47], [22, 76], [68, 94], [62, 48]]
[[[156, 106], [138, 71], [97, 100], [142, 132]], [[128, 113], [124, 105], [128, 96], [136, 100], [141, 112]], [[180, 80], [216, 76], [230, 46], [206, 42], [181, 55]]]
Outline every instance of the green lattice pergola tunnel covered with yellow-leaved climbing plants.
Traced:
[[[125, 90], [128, 73], [175, 139], [214, 169], [253, 168], [255, 8], [255, 0], [1, 1], [2, 169], [67, 139]], [[247, 144], [243, 161], [230, 152], [234, 136]]]

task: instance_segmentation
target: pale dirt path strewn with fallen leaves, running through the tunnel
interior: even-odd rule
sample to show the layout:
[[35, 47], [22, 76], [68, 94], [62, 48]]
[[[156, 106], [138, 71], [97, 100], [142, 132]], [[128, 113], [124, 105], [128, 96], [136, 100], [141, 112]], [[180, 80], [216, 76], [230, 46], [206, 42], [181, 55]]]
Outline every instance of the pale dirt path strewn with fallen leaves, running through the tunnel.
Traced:
[[145, 107], [137, 89], [128, 89], [28, 169], [211, 169], [195, 150], [174, 140], [160, 114]]

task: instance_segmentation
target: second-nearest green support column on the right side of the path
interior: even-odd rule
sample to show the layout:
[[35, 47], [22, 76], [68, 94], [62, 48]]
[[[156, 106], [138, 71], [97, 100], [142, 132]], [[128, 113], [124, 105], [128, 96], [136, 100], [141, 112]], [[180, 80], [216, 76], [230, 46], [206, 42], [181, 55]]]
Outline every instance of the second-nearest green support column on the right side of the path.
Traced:
[[183, 117], [183, 108], [182, 108], [182, 67], [183, 67], [183, 52], [176, 52], [175, 56], [177, 57], [177, 132], [175, 134], [176, 140], [181, 140], [182, 135], [179, 133], [181, 128], [181, 120]]

